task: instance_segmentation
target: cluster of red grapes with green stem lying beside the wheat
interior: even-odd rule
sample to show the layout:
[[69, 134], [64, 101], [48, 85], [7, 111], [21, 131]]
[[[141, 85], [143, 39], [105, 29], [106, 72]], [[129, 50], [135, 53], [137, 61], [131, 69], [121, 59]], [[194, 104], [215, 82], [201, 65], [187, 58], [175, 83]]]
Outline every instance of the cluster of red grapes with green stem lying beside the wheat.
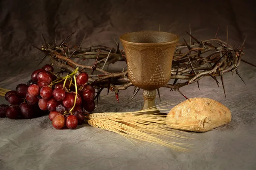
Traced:
[[[51, 65], [35, 70], [27, 84], [18, 84], [16, 90], [6, 92], [10, 105], [0, 105], [0, 117], [10, 119], [35, 118], [49, 113], [56, 129], [75, 129], [84, 123], [84, 111], [95, 109], [95, 89], [87, 84], [87, 73], [57, 77]], [[74, 75], [74, 76], [73, 76]]]

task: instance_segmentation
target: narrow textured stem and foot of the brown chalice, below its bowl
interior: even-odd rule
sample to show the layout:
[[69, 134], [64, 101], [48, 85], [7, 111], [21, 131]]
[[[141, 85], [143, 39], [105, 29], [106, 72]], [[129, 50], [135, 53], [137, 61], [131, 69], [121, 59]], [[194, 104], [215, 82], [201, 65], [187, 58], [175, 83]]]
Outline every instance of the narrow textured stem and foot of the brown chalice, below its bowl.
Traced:
[[141, 110], [152, 108], [154, 111], [143, 112], [145, 114], [159, 113], [155, 105], [156, 90], [143, 90], [144, 104]]

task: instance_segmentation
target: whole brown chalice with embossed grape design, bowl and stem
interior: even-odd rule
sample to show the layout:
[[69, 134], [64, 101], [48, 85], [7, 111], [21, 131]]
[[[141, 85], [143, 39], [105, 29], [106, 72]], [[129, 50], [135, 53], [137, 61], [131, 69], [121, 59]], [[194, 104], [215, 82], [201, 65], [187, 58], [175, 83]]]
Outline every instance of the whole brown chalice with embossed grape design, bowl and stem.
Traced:
[[171, 78], [172, 59], [179, 36], [168, 32], [139, 31], [126, 33], [119, 39], [125, 49], [128, 78], [134, 86], [143, 89], [141, 110], [155, 108], [156, 89]]

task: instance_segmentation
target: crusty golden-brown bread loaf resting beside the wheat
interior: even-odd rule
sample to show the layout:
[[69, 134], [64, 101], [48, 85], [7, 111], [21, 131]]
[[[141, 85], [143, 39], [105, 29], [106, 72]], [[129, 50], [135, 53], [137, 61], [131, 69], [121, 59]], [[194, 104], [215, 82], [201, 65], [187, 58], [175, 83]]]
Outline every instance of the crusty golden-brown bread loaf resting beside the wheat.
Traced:
[[194, 132], [206, 132], [230, 121], [230, 110], [210, 98], [190, 98], [183, 101], [173, 107], [166, 117], [169, 127]]

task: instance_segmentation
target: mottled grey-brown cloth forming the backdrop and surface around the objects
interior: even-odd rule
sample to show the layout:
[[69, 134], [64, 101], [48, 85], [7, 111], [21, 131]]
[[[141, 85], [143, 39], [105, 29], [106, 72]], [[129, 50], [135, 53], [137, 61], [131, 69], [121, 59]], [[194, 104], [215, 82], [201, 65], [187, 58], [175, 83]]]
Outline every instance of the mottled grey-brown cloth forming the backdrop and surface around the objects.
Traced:
[[[244, 60], [256, 64], [256, 11], [249, 0], [147, 1], [147, 0], [1, 0], [0, 1], [0, 87], [15, 89], [26, 83], [40, 66], [43, 54], [41, 33], [47, 39], [75, 32], [72, 44], [87, 33], [83, 46], [114, 47], [119, 36], [137, 30], [172, 32], [188, 40], [185, 31], [191, 24], [198, 40], [218, 37], [239, 46], [247, 35]], [[87, 61], [92, 63], [93, 61]], [[116, 62], [110, 71], [125, 64]], [[232, 121], [206, 133], [196, 133], [189, 153], [165, 147], [131, 144], [122, 136], [88, 125], [76, 130], [55, 130], [47, 116], [32, 120], [0, 118], [1, 170], [255, 170], [256, 169], [256, 68], [241, 63], [238, 75], [224, 75], [227, 98], [212, 78], [180, 90], [189, 98], [207, 97], [227, 106]], [[220, 81], [220, 79], [218, 79]], [[162, 102], [179, 104], [179, 92], [160, 88]], [[95, 112], [135, 111], [142, 107], [142, 91], [131, 101], [133, 87], [115, 95], [103, 90]], [[156, 100], [160, 104], [159, 99]], [[0, 98], [1, 104], [7, 104]]]

